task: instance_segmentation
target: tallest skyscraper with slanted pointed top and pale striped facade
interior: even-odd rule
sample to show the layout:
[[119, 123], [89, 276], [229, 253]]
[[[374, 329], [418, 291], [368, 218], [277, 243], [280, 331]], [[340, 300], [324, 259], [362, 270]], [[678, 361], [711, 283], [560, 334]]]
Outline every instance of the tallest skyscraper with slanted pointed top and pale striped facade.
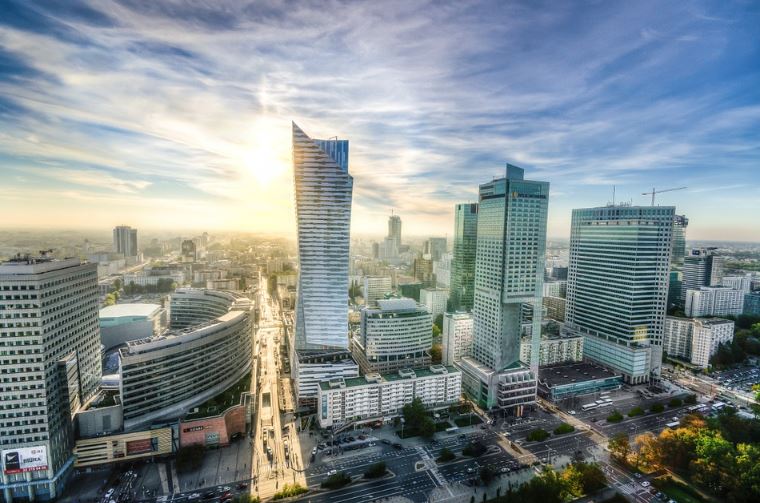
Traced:
[[333, 370], [358, 374], [348, 353], [348, 141], [313, 140], [293, 123], [293, 180], [299, 267], [291, 361], [306, 404], [316, 403], [319, 381]]

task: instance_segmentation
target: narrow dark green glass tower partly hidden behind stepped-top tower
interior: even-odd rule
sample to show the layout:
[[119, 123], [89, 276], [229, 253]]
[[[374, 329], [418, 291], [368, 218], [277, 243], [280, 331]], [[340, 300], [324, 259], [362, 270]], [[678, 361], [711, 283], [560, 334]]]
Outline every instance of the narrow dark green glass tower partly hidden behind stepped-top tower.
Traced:
[[451, 262], [449, 310], [471, 311], [475, 290], [478, 203], [454, 207], [454, 258]]

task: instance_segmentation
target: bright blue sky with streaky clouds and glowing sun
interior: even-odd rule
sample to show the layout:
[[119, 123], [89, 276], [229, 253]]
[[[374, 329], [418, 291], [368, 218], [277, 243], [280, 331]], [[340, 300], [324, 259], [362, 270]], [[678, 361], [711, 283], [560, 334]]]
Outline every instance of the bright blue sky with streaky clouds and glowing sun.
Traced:
[[758, 2], [0, 0], [0, 228], [293, 233], [290, 124], [352, 232], [451, 235], [505, 163], [760, 241]]

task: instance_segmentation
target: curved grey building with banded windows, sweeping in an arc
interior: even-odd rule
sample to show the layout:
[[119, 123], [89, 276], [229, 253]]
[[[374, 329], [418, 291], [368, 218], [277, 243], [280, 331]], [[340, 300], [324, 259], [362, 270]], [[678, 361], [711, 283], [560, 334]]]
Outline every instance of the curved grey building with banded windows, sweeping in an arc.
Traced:
[[[130, 341], [120, 351], [126, 430], [182, 416], [251, 369], [250, 299], [194, 289], [178, 293], [182, 307], [172, 309], [172, 320], [186, 328]], [[187, 326], [190, 321], [199, 323]]]

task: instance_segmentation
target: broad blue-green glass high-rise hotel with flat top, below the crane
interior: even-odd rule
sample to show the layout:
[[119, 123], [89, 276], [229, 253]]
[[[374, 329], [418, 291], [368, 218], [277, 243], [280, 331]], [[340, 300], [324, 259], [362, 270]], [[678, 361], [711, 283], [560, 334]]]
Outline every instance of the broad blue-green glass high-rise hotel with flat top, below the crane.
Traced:
[[626, 382], [659, 375], [668, 297], [672, 206], [573, 210], [566, 328], [583, 335], [584, 357]]

